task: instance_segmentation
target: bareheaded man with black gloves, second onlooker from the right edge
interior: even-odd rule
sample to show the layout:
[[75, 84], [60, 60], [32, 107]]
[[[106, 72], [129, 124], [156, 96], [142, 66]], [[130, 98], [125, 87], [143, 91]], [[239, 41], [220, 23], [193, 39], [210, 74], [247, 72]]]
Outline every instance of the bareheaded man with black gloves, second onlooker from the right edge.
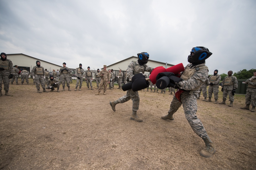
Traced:
[[221, 91], [223, 92], [222, 102], [219, 104], [226, 104], [226, 99], [229, 96], [229, 107], [233, 107], [234, 95], [238, 87], [237, 77], [233, 76], [233, 71], [228, 71], [228, 76], [222, 81]]

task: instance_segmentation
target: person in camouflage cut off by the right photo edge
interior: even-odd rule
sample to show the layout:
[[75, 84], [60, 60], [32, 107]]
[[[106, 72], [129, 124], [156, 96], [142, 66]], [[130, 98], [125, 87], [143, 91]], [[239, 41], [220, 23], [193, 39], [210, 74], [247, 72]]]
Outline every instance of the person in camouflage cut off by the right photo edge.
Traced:
[[245, 95], [245, 107], [240, 109], [250, 110], [250, 104], [252, 104], [251, 112], [255, 112], [256, 106], [256, 71], [253, 72], [253, 76], [250, 79], [247, 79], [245, 84], [248, 84]]

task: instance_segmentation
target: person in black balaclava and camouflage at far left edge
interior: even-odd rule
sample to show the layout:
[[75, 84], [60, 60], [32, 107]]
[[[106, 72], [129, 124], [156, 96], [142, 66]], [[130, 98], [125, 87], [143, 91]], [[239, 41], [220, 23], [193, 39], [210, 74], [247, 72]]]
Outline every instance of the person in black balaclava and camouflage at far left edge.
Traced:
[[5, 96], [10, 96], [8, 94], [9, 91], [9, 83], [10, 79], [13, 78], [14, 70], [13, 70], [13, 62], [7, 59], [5, 53], [1, 53], [0, 60], [0, 96], [2, 96], [2, 82], [4, 83]]

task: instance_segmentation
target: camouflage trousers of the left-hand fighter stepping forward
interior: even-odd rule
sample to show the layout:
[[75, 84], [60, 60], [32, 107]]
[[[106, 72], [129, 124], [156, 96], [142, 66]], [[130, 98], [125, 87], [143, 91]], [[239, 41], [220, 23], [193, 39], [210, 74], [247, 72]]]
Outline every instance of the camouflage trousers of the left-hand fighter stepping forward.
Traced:
[[140, 96], [138, 91], [132, 91], [132, 89], [127, 90], [126, 95], [124, 95], [123, 97], [120, 97], [118, 99], [118, 102], [124, 103], [130, 99], [132, 99], [132, 110], [137, 111], [139, 109], [139, 104], [140, 104]]

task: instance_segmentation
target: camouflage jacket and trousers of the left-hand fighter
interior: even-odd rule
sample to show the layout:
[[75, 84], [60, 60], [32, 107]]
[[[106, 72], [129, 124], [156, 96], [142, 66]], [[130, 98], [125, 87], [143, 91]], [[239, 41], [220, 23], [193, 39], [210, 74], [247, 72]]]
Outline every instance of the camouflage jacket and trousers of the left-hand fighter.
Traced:
[[[147, 72], [151, 72], [154, 68], [148, 66], [147, 64], [143, 64], [142, 66], [139, 65], [138, 60], [137, 61], [132, 61], [127, 68], [127, 82], [129, 83], [132, 81], [132, 77], [135, 74], [138, 73], [144, 73], [145, 71]], [[133, 91], [132, 89], [127, 90], [126, 91], [126, 95], [124, 95], [123, 97], [120, 97], [118, 99], [119, 103], [124, 103], [126, 101], [129, 101], [130, 99], [132, 99], [132, 110], [133, 111], [137, 111], [139, 109], [139, 104], [140, 104], [140, 96], [138, 91]]]

